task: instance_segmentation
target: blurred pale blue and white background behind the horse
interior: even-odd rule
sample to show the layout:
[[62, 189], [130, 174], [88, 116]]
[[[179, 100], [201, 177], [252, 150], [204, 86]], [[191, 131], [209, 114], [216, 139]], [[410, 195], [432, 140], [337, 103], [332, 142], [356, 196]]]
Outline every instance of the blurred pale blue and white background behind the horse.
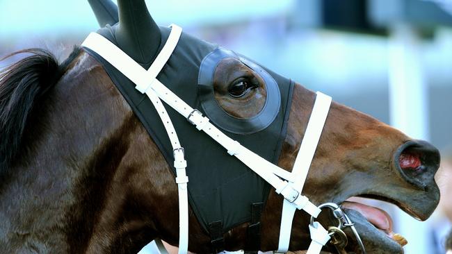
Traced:
[[[444, 253], [452, 219], [452, 0], [167, 0], [147, 6], [162, 26], [178, 24], [437, 146], [443, 199], [434, 216], [419, 223], [384, 206], [395, 232], [409, 242], [406, 253]], [[98, 28], [88, 1], [80, 0], [0, 0], [0, 24], [0, 57], [42, 47], [60, 60]]]

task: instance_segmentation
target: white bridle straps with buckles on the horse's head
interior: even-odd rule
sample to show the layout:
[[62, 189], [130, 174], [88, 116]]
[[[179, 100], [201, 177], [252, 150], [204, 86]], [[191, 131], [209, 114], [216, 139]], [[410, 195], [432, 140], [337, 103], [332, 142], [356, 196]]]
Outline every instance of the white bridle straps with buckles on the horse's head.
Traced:
[[[307, 173], [312, 158], [314, 158], [318, 140], [320, 139], [330, 109], [331, 97], [317, 92], [314, 108], [309, 118], [309, 124], [305, 132], [305, 137], [302, 139], [295, 164], [291, 172], [286, 171], [261, 158], [234, 139], [229, 138], [221, 130], [218, 130], [216, 126], [213, 126], [209, 118], [203, 117], [201, 112], [191, 108], [190, 105], [182, 101], [179, 96], [171, 92], [156, 79], [156, 76], [177, 46], [181, 35], [182, 29], [179, 26], [173, 24], [171, 27], [172, 30], [165, 46], [163, 46], [159, 56], [157, 56], [156, 60], [147, 70], [143, 69], [137, 62], [127, 56], [118, 46], [115, 46], [115, 44], [97, 33], [90, 33], [81, 46], [95, 51], [99, 56], [102, 56], [102, 58], [118, 69], [118, 71], [122, 72], [124, 76], [127, 76], [127, 78], [134, 82], [138, 91], [147, 94], [161, 117], [174, 151], [174, 167], [177, 173], [176, 183], [179, 188], [179, 253], [187, 253], [188, 251], [188, 177], [186, 176], [184, 149], [179, 143], [175, 128], [161, 100], [165, 101], [171, 108], [184, 116], [197, 130], [204, 131], [204, 133], [223, 146], [229, 155], [233, 155], [241, 160], [252, 171], [255, 171], [261, 178], [270, 183], [275, 188], [277, 194], [284, 196], [278, 252], [286, 252], [289, 248], [292, 220], [295, 211], [297, 209], [305, 210], [305, 212], [314, 218], [321, 212], [320, 208], [311, 203], [306, 196], [302, 196], [301, 192], [303, 185], [305, 185]], [[309, 225], [309, 232], [311, 233], [312, 242], [307, 253], [320, 253], [322, 246], [330, 239], [328, 231], [320, 223], [314, 222], [313, 225]]]

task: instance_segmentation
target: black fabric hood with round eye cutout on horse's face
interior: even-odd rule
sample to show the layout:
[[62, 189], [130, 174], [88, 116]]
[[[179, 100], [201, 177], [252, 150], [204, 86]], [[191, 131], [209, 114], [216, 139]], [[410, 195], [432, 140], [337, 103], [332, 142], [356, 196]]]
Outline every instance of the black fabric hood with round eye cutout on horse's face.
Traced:
[[[99, 34], [118, 46], [114, 31], [106, 26]], [[161, 27], [160, 48], [165, 44], [170, 28]], [[124, 49], [123, 49], [124, 50]], [[131, 105], [161, 153], [171, 165], [172, 146], [159, 115], [146, 94], [115, 67], [86, 49], [102, 63], [104, 69]], [[267, 99], [256, 117], [237, 119], [220, 108], [213, 96], [213, 73], [223, 58], [237, 58], [253, 69], [265, 81]], [[151, 62], [140, 63], [148, 69]], [[262, 158], [277, 163], [289, 119], [293, 83], [233, 51], [223, 49], [186, 33], [182, 33], [172, 56], [157, 79], [188, 105], [197, 108], [220, 130]], [[271, 188], [265, 180], [242, 162], [227, 154], [225, 149], [205, 133], [198, 131], [184, 117], [165, 105], [175, 126], [181, 146], [185, 149], [188, 175], [188, 200], [207, 232], [209, 224], [221, 221], [223, 232], [251, 220], [251, 205], [264, 203]], [[174, 173], [175, 169], [172, 167]], [[175, 208], [177, 209], [177, 208]]]

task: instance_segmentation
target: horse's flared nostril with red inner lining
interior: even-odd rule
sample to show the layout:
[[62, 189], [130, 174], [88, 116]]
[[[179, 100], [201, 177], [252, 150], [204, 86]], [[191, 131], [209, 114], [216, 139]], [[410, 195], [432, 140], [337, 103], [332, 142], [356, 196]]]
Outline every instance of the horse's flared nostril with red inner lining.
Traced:
[[439, 151], [428, 142], [411, 140], [397, 149], [394, 162], [407, 182], [425, 189], [439, 168]]

